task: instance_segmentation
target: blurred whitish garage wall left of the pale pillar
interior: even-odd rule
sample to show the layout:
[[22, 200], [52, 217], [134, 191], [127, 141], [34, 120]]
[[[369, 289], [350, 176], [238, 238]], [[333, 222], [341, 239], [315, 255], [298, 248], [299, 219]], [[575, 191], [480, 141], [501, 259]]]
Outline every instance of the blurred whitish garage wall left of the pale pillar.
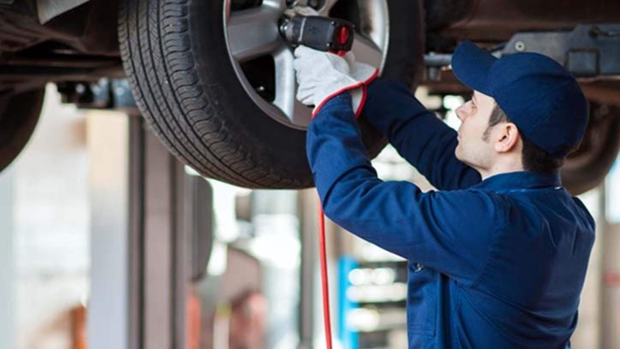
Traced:
[[87, 299], [85, 126], [48, 85], [37, 129], [13, 165], [16, 348], [69, 348], [71, 309]]

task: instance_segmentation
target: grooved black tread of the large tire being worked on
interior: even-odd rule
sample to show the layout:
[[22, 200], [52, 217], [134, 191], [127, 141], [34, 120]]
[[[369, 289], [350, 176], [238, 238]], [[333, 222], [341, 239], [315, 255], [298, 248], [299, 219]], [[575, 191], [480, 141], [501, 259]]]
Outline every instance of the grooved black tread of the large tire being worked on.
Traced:
[[308, 180], [287, 181], [263, 168], [231, 140], [231, 130], [195, 71], [188, 1], [149, 1], [120, 2], [120, 52], [136, 104], [170, 152], [204, 176], [239, 186], [311, 186]]

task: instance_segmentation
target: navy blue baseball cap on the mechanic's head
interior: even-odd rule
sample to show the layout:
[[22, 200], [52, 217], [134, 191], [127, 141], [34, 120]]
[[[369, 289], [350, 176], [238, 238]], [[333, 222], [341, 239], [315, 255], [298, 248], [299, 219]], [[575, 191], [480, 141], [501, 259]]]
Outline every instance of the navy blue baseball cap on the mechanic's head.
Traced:
[[470, 41], [452, 56], [461, 83], [491, 96], [522, 134], [553, 156], [578, 145], [588, 124], [588, 101], [569, 71], [545, 55], [495, 58]]

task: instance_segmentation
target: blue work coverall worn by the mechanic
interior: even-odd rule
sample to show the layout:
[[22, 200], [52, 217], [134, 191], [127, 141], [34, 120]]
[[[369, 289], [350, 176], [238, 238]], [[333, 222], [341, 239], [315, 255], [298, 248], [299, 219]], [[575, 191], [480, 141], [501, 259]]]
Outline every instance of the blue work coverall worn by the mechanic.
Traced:
[[480, 181], [454, 130], [376, 79], [363, 117], [439, 190], [381, 181], [350, 103], [339, 94], [312, 120], [308, 160], [325, 214], [409, 261], [409, 348], [570, 348], [595, 222], [559, 175]]

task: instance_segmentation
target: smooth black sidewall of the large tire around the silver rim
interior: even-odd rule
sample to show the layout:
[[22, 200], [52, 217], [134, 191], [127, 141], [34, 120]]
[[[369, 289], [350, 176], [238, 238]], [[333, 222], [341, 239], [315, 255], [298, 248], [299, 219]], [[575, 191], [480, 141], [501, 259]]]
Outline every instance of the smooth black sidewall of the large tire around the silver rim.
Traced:
[[[423, 50], [421, 1], [405, 4], [400, 0], [387, 0], [387, 5], [390, 35], [383, 76], [414, 88]], [[210, 102], [203, 112], [215, 114], [223, 124], [222, 132], [229, 133], [226, 136], [237, 152], [246, 153], [248, 161], [260, 163], [272, 174], [280, 176], [277, 188], [312, 186], [306, 160], [306, 132], [288, 127], [266, 115], [237, 78], [224, 36], [223, 6], [223, 0], [188, 2], [186, 18], [195, 63], [193, 69], [201, 89], [197, 93], [204, 93]], [[174, 86], [173, 78], [170, 78], [170, 83], [175, 93], [184, 87], [181, 84]], [[195, 106], [185, 102], [181, 104], [184, 112], [195, 109]], [[363, 117], [360, 128], [370, 155], [376, 156], [386, 145], [386, 140]]]

